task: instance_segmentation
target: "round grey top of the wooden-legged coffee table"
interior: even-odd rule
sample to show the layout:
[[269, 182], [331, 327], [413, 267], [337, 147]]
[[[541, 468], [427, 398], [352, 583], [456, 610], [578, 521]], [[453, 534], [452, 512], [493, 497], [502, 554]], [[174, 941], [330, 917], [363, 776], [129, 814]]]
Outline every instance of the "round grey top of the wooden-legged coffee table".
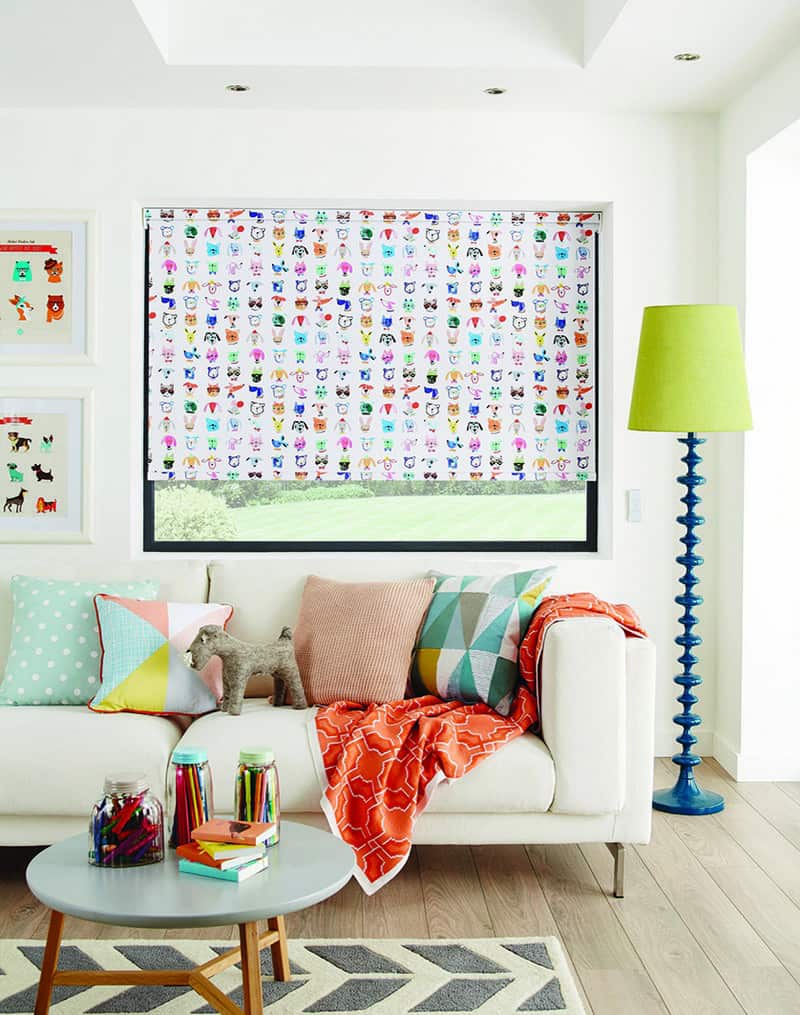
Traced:
[[104, 870], [87, 860], [87, 835], [74, 835], [31, 860], [30, 891], [51, 909], [124, 927], [224, 927], [305, 909], [350, 879], [355, 858], [327, 831], [281, 821], [269, 867], [237, 884], [181, 874], [175, 851], [163, 863]]

